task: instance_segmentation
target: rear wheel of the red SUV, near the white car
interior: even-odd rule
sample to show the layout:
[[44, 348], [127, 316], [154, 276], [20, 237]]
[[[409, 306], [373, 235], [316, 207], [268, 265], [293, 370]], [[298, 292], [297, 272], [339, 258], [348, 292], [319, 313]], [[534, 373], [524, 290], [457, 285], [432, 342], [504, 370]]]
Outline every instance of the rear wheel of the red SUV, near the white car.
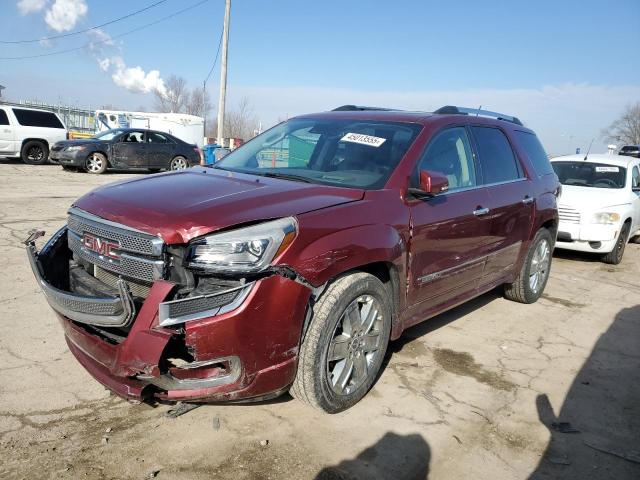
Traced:
[[504, 284], [504, 296], [519, 303], [535, 303], [549, 280], [553, 238], [546, 228], [533, 237], [522, 268], [513, 283]]

